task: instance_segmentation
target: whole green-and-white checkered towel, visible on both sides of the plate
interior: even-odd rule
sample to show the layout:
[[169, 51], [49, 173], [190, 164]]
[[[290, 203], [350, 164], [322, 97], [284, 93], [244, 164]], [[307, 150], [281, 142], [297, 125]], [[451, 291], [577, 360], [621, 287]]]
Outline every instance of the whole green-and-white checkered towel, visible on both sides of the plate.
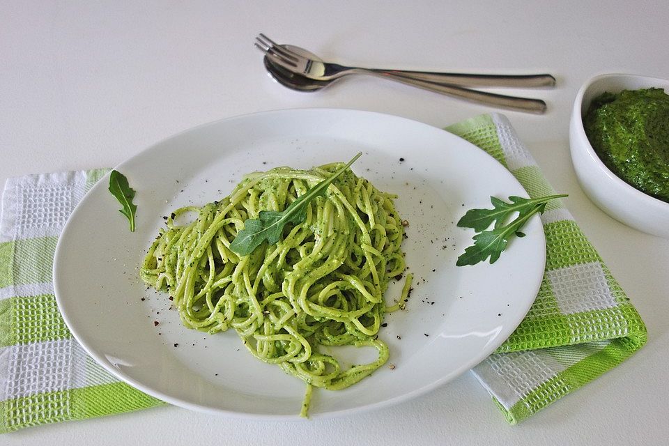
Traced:
[[[553, 194], [502, 115], [447, 128], [491, 153], [531, 197]], [[0, 219], [0, 432], [163, 404], [82, 349], [52, 286], [56, 240], [105, 170], [10, 178]], [[542, 215], [547, 262], [528, 316], [473, 373], [516, 423], [615, 367], [646, 341], [636, 310], [562, 203]]]

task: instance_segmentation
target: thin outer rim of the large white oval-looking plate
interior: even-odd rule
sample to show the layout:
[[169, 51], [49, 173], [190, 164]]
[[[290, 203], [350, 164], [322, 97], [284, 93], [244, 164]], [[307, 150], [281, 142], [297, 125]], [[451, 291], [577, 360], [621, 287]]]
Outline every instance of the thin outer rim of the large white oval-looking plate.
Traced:
[[[201, 123], [199, 125], [195, 125], [194, 127], [187, 128], [184, 130], [180, 130], [178, 132], [175, 132], [174, 134], [170, 134], [167, 137], [164, 137], [160, 139], [159, 141], [156, 141], [153, 144], [149, 144], [148, 146], [145, 146], [144, 148], [141, 148], [137, 153], [134, 153], [134, 155], [126, 158], [123, 160], [121, 163], [116, 164], [115, 167], [112, 167], [109, 169], [109, 171], [102, 176], [98, 182], [91, 187], [91, 189], [84, 194], [84, 197], [77, 203], [74, 209], [72, 209], [72, 213], [68, 216], [68, 220], [66, 224], [63, 225], [63, 228], [61, 229], [61, 233], [59, 233], [58, 236], [58, 243], [56, 243], [56, 249], [54, 251], [54, 263], [52, 266], [52, 282], [54, 285], [54, 297], [56, 299], [56, 305], [58, 306], [59, 313], [63, 317], [63, 321], [65, 321], [68, 330], [70, 330], [70, 333], [72, 334], [72, 337], [75, 338], [75, 340], [79, 343], [82, 348], [84, 348], [84, 351], [86, 351], [86, 354], [90, 355], [93, 357], [95, 362], [98, 362], [101, 367], [103, 367], [106, 371], [108, 371], [110, 374], [118, 378], [119, 380], [123, 381], [124, 383], [128, 383], [128, 385], [134, 387], [136, 390], [139, 390], [141, 392], [144, 392], [151, 397], [155, 397], [156, 399], [160, 399], [160, 401], [164, 401], [167, 403], [170, 403], [174, 406], [179, 406], [183, 408], [187, 408], [190, 410], [196, 410], [198, 412], [202, 413], [210, 413], [210, 414], [215, 414], [215, 415], [226, 415], [229, 417], [238, 417], [238, 418], [247, 418], [247, 419], [255, 419], [255, 420], [266, 420], [266, 421], [280, 421], [280, 420], [305, 420], [299, 416], [298, 413], [295, 413], [294, 415], [291, 414], [266, 414], [266, 413], [252, 413], [252, 412], [243, 412], [243, 411], [235, 411], [235, 410], [227, 410], [224, 408], [213, 408], [210, 406], [203, 406], [199, 405], [197, 403], [193, 403], [191, 401], [185, 401], [183, 399], [179, 399], [177, 397], [171, 397], [169, 394], [166, 394], [164, 392], [161, 392], [160, 390], [156, 390], [155, 387], [151, 387], [150, 385], [145, 385], [144, 383], [141, 383], [140, 381], [136, 380], [135, 378], [132, 378], [132, 376], [125, 375], [121, 372], [121, 370], [115, 368], [115, 367], [110, 367], [109, 364], [107, 363], [107, 360], [105, 358], [101, 357], [101, 355], [98, 355], [98, 353], [95, 352], [95, 349], [93, 346], [89, 346], [89, 343], [87, 343], [84, 339], [85, 336], [82, 338], [82, 334], [77, 330], [76, 324], [73, 324], [70, 317], [68, 316], [67, 312], [63, 311], [63, 298], [61, 293], [59, 293], [59, 266], [60, 262], [58, 261], [59, 257], [62, 255], [62, 252], [66, 249], [63, 247], [63, 244], [61, 243], [61, 240], [63, 238], [61, 237], [63, 233], [68, 230], [68, 226], [70, 226], [70, 221], [72, 220], [72, 217], [75, 217], [77, 215], [77, 212], [79, 211], [79, 208], [82, 207], [82, 204], [86, 200], [86, 197], [95, 189], [96, 186], [102, 184], [105, 180], [109, 178], [109, 174], [111, 173], [112, 170], [114, 169], [119, 169], [122, 168], [125, 164], [132, 162], [136, 157], [139, 157], [141, 154], [145, 153], [146, 151], [150, 151], [154, 149], [156, 146], [160, 146], [164, 144], [165, 142], [174, 139], [176, 137], [179, 137], [183, 134], [190, 133], [190, 132], [197, 132], [197, 130], [200, 130], [202, 128], [207, 128], [209, 126], [214, 126], [214, 125], [220, 125], [220, 123], [226, 122], [226, 121], [234, 121], [238, 119], [249, 119], [249, 118], [256, 118], [258, 116], [270, 116], [272, 114], [291, 114], [294, 112], [302, 112], [302, 113], [309, 113], [309, 112], [314, 112], [314, 113], [358, 113], [358, 114], [367, 114], [369, 116], [376, 116], [378, 118], [394, 118], [394, 119], [399, 119], [401, 121], [408, 121], [412, 123], [413, 125], [421, 125], [425, 126], [426, 128], [431, 128], [431, 129], [436, 129], [444, 132], [445, 134], [449, 134], [451, 137], [454, 137], [456, 139], [460, 139], [463, 143], [467, 144], [468, 146], [471, 146], [472, 148], [475, 148], [477, 151], [481, 152], [483, 155], [486, 155], [487, 157], [491, 158], [492, 160], [495, 160], [502, 169], [507, 171], [509, 174], [510, 178], [514, 180], [524, 191], [525, 187], [518, 181], [518, 178], [512, 174], [511, 171], [509, 171], [502, 163], [500, 163], [498, 160], [495, 159], [492, 155], [484, 151], [482, 148], [476, 146], [475, 144], [472, 144], [470, 141], [467, 141], [466, 139], [460, 137], [459, 135], [456, 135], [454, 133], [448, 132], [447, 130], [444, 130], [443, 128], [436, 127], [435, 125], [430, 125], [427, 123], [423, 123], [422, 121], [417, 121], [412, 118], [406, 118], [404, 116], [397, 116], [393, 114], [387, 114], [383, 112], [374, 112], [374, 111], [369, 111], [369, 110], [362, 110], [362, 109], [349, 109], [349, 108], [337, 108], [337, 107], [297, 107], [297, 108], [289, 108], [289, 109], [271, 109], [271, 110], [264, 110], [264, 111], [259, 111], [259, 112], [250, 112], [247, 114], [240, 114], [240, 115], [235, 115], [235, 116], [228, 116], [225, 118], [219, 118], [215, 119], [213, 121], [209, 121], [206, 123]], [[100, 187], [100, 186], [98, 186]], [[527, 192], [525, 191], [525, 196], [527, 196]], [[85, 205], [84, 205], [85, 206]], [[540, 217], [539, 215], [534, 215], [532, 216], [530, 222], [539, 220]], [[546, 234], [544, 231], [544, 226], [541, 224], [539, 221], [539, 236], [540, 236], [540, 241], [541, 241], [541, 246], [543, 249], [537, 249], [540, 256], [541, 256], [541, 275], [537, 275], [539, 277], [536, 282], [535, 286], [532, 287], [532, 295], [536, 296], [539, 288], [541, 286], [541, 282], [543, 282], [544, 278], [544, 270], [546, 266]], [[518, 323], [514, 323], [512, 325], [513, 328], [509, 330], [509, 336], [516, 330], [518, 325], [521, 324], [521, 322], [524, 320], [525, 316], [530, 310], [530, 307], [532, 307], [532, 304], [535, 302], [535, 299], [529, 300], [528, 299], [528, 304], [526, 305], [526, 308], [521, 309], [518, 314], [522, 314], [523, 316], [519, 318]], [[510, 325], [509, 325], [510, 326]], [[506, 330], [502, 330], [506, 331]], [[442, 385], [445, 385], [449, 381], [454, 380], [456, 377], [461, 376], [465, 371], [472, 369], [476, 364], [479, 364], [479, 362], [482, 362], [486, 357], [489, 355], [493, 354], [496, 349], [502, 345], [508, 337], [504, 337], [500, 341], [495, 341], [491, 344], [492, 348], [489, 348], [490, 351], [487, 351], [487, 349], [483, 349], [482, 352], [479, 352], [477, 355], [473, 355], [473, 357], [469, 361], [463, 362], [459, 367], [456, 367], [454, 371], [450, 372], [447, 374], [447, 376], [444, 376], [443, 378], [439, 378], [437, 380], [433, 380], [426, 385], [423, 385], [422, 387], [419, 387], [415, 390], [411, 390], [409, 392], [405, 392], [402, 394], [398, 394], [397, 396], [390, 397], [388, 399], [384, 399], [383, 401], [376, 401], [374, 403], [367, 403], [362, 406], [354, 406], [352, 408], [344, 408], [344, 409], [337, 409], [337, 410], [327, 410], [325, 412], [320, 412], [320, 413], [314, 413], [309, 414], [309, 419], [326, 419], [330, 417], [341, 417], [341, 416], [346, 416], [346, 415], [351, 415], [353, 413], [360, 413], [360, 412], [367, 412], [368, 410], [376, 410], [377, 408], [383, 408], [390, 406], [394, 403], [400, 403], [403, 401], [408, 401], [409, 399], [413, 399], [415, 397], [419, 397], [422, 394], [426, 394], [430, 390], [434, 390], [437, 387], [440, 387]]]

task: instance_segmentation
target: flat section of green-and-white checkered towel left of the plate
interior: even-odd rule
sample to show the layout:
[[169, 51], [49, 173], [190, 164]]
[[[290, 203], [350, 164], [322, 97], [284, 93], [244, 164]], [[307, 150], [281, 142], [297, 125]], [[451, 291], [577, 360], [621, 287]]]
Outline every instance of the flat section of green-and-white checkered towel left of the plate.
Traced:
[[56, 307], [56, 241], [105, 172], [7, 180], [0, 219], [0, 433], [162, 404], [86, 355]]

